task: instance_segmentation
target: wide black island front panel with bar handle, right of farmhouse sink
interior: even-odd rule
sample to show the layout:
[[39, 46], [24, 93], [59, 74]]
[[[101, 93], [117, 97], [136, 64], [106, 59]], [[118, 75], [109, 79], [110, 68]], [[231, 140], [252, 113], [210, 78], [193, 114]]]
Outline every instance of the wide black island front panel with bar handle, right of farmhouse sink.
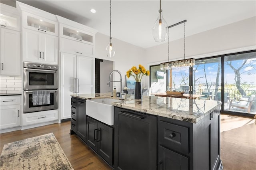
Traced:
[[115, 107], [115, 169], [156, 170], [156, 120]]

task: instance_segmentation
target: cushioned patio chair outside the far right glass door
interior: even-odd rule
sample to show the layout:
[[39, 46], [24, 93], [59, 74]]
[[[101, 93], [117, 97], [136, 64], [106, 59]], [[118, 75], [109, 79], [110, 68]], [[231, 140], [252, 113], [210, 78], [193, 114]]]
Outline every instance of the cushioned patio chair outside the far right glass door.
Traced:
[[240, 109], [244, 109], [245, 112], [250, 113], [250, 109], [252, 107], [254, 95], [251, 95], [250, 98], [240, 97], [239, 99], [231, 99], [228, 110], [230, 108], [237, 107]]

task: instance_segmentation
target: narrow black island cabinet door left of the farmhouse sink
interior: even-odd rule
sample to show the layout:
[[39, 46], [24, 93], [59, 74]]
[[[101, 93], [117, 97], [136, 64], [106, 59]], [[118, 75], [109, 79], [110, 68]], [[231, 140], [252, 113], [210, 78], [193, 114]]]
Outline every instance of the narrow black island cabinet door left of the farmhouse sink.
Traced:
[[76, 100], [76, 134], [86, 141], [86, 112], [85, 101]]

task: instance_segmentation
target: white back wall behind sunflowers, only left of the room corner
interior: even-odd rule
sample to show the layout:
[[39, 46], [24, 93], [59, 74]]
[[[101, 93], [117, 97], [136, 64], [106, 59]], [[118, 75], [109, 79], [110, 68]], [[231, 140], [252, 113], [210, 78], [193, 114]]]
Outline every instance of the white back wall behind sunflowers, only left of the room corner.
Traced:
[[[114, 61], [114, 68], [122, 73], [122, 87], [125, 87], [125, 75], [126, 71], [132, 66], [138, 67], [139, 64], [147, 66], [148, 61], [145, 59], [145, 49], [137, 47], [130, 43], [126, 43], [115, 38], [112, 39], [112, 44], [116, 49], [116, 55], [113, 58], [108, 58], [106, 56], [106, 46], [108, 45], [109, 37], [97, 33], [95, 36], [95, 57], [99, 59], [107, 59]], [[108, 75], [110, 72], [108, 73]], [[119, 81], [120, 76], [118, 73], [114, 73], [114, 81]], [[142, 78], [142, 87], [146, 85], [147, 78], [144, 76]], [[116, 86], [116, 91], [120, 91], [120, 83], [114, 83]], [[113, 89], [113, 88], [112, 88]]]

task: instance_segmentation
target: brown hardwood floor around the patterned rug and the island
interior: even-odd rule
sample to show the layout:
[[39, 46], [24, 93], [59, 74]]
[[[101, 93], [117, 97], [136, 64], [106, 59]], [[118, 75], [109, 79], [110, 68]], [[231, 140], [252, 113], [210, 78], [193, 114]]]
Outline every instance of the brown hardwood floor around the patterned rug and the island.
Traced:
[[[255, 170], [256, 124], [254, 119], [221, 115], [221, 154], [224, 170]], [[75, 170], [111, 170], [76, 135], [70, 135], [70, 122], [0, 134], [4, 144], [53, 132]]]

